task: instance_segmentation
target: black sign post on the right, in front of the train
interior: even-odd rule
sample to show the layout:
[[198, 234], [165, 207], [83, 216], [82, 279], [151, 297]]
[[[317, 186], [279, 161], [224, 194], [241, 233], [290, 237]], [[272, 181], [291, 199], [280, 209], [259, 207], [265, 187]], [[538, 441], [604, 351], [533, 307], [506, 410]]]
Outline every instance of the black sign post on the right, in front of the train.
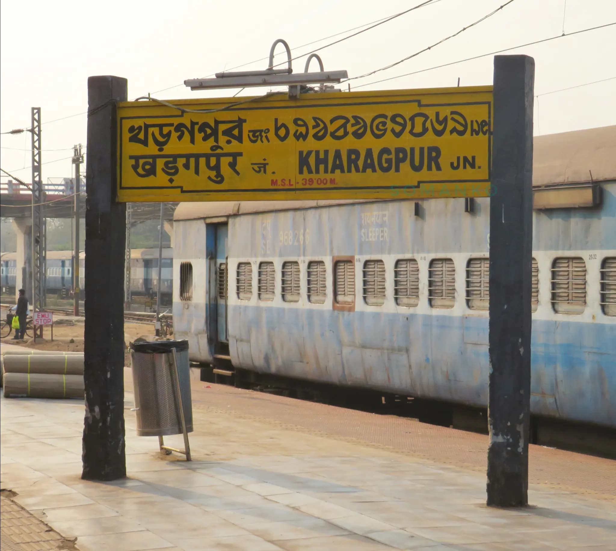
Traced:
[[528, 504], [533, 87], [526, 55], [494, 58], [487, 504]]

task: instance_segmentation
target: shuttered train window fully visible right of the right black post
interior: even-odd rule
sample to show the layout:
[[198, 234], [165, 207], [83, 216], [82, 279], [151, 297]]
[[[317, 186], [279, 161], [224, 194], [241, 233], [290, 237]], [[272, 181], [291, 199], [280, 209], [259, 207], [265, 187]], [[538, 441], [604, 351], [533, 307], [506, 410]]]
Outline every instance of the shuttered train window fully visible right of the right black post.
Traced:
[[554, 312], [581, 314], [586, 308], [586, 263], [581, 257], [557, 258], [552, 264]]

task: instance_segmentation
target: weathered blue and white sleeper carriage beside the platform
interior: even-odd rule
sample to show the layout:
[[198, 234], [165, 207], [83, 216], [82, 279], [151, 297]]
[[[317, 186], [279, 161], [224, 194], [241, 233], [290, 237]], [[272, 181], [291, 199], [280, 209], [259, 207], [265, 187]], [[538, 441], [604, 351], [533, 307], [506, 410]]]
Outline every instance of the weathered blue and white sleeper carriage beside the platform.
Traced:
[[[536, 137], [533, 185], [532, 412], [616, 427], [616, 126]], [[180, 204], [176, 336], [203, 363], [485, 407], [488, 211]]]

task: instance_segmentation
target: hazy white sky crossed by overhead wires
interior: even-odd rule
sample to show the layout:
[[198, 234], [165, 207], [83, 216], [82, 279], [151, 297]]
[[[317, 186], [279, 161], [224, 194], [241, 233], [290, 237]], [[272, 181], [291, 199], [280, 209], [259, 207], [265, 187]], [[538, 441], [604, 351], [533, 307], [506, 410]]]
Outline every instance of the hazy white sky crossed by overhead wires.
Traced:
[[[34, 0], [0, 2], [0, 131], [30, 125], [41, 107], [43, 181], [69, 176], [74, 143], [86, 145], [86, 116], [49, 122], [87, 109], [87, 77], [128, 78], [129, 99], [151, 92], [160, 99], [232, 95], [191, 92], [182, 82], [266, 57], [272, 42], [291, 48], [396, 14], [420, 0]], [[432, 6], [318, 52], [326, 69], [357, 76], [413, 54], [460, 30], [505, 0], [439, 0]], [[560, 35], [565, 0], [514, 0], [460, 36], [352, 86]], [[566, 0], [564, 31], [616, 22], [616, 0]], [[351, 33], [348, 33], [351, 34]], [[344, 36], [344, 35], [341, 35]], [[340, 38], [339, 36], [336, 38]], [[336, 39], [334, 38], [334, 39]], [[294, 50], [298, 55], [334, 39]], [[282, 52], [282, 48], [280, 49]], [[535, 94], [616, 76], [616, 26], [510, 52], [535, 58]], [[282, 55], [277, 56], [282, 61]], [[294, 64], [302, 71], [305, 58]], [[246, 68], [264, 69], [266, 61]], [[367, 89], [490, 84], [485, 57], [395, 79]], [[180, 84], [170, 90], [159, 90]], [[241, 95], [267, 90], [248, 89]], [[229, 92], [227, 94], [227, 92]], [[541, 96], [535, 134], [616, 124], [616, 79]], [[1, 136], [1, 166], [30, 180], [30, 134]], [[55, 151], [49, 151], [55, 150]], [[2, 181], [6, 181], [3, 177]]]

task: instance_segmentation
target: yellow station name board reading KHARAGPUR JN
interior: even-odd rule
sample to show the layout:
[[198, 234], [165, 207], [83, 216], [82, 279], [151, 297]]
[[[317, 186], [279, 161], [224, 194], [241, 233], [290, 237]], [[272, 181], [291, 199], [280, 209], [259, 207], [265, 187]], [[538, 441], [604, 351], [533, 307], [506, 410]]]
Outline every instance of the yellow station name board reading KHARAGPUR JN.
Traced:
[[117, 200], [490, 195], [491, 86], [237, 102], [118, 103]]

